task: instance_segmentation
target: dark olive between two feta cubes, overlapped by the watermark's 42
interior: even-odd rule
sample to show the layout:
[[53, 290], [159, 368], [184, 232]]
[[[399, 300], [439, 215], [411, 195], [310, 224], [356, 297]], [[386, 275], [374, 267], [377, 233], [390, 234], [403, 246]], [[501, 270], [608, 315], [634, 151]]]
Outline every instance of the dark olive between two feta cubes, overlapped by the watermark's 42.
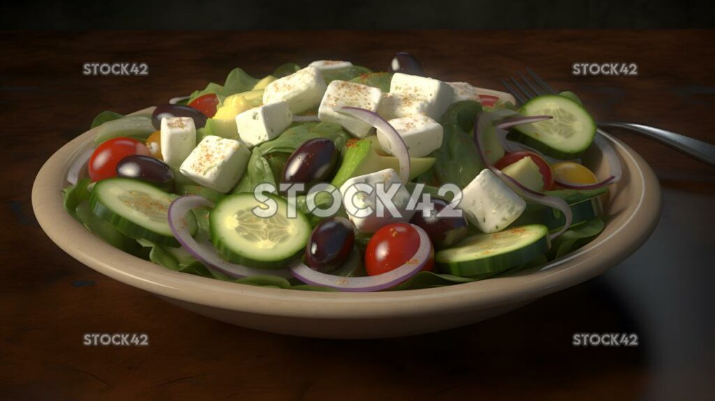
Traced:
[[430, 202], [432, 203], [430, 216], [423, 217], [422, 211], [418, 211], [410, 223], [424, 229], [435, 245], [435, 248], [449, 247], [466, 237], [468, 229], [467, 219], [464, 217], [445, 216], [445, 214], [449, 214], [449, 212], [459, 212], [459, 209], [445, 210], [442, 216], [438, 216], [437, 214], [442, 212], [449, 202], [435, 197], [433, 197]]

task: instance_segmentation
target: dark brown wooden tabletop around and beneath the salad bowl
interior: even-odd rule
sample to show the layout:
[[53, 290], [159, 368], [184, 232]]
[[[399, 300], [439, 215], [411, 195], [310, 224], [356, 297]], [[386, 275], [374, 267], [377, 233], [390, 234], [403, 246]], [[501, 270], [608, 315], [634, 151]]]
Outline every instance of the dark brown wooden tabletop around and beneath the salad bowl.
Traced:
[[[423, 31], [0, 34], [0, 398], [14, 400], [629, 400], [712, 395], [715, 169], [633, 134], [664, 187], [643, 248], [602, 277], [501, 317], [432, 335], [315, 340], [233, 327], [169, 305], [64, 254], [34, 219], [34, 175], [102, 110], [131, 112], [285, 61], [385, 69], [395, 51], [429, 74], [501, 89], [529, 66], [597, 119], [715, 142], [714, 31]], [[148, 77], [82, 76], [87, 61]], [[637, 77], [577, 77], [628, 61]], [[85, 347], [89, 332], [145, 332], [149, 347]], [[639, 347], [573, 347], [575, 332], [635, 332]]]

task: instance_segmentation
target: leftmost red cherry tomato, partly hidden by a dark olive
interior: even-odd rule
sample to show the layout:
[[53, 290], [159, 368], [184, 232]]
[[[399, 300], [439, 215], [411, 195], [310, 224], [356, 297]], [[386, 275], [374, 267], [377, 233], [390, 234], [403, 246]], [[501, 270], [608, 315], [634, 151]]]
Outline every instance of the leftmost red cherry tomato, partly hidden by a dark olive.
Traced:
[[117, 177], [117, 163], [132, 154], [151, 156], [149, 149], [137, 139], [119, 137], [102, 142], [89, 158], [89, 178], [99, 181]]

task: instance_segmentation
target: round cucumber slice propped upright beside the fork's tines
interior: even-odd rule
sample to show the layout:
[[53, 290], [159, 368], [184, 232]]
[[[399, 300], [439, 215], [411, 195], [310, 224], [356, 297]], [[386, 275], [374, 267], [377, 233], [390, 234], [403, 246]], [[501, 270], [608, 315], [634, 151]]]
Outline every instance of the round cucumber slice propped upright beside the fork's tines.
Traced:
[[553, 116], [553, 119], [520, 125], [508, 138], [556, 159], [580, 157], [596, 135], [596, 122], [591, 114], [566, 96], [536, 96], [523, 104], [520, 112], [525, 116]]

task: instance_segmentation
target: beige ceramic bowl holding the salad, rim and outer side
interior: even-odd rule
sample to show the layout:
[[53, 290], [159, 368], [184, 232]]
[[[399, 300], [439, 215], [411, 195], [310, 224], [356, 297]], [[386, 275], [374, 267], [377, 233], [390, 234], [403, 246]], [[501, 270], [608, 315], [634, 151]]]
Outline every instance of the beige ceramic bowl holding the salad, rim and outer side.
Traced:
[[[146, 111], [144, 111], [146, 112]], [[174, 272], [124, 253], [94, 237], [62, 207], [71, 162], [92, 143], [90, 130], [64, 145], [41, 168], [32, 206], [46, 234], [97, 272], [157, 294], [200, 315], [257, 330], [307, 337], [396, 337], [468, 325], [571, 287], [626, 259], [653, 232], [661, 210], [659, 182], [633, 149], [608, 137], [623, 162], [611, 185], [606, 228], [592, 242], [551, 263], [513, 277], [450, 287], [395, 292], [311, 292], [254, 287]], [[589, 151], [584, 163], [599, 176], [608, 167]]]

